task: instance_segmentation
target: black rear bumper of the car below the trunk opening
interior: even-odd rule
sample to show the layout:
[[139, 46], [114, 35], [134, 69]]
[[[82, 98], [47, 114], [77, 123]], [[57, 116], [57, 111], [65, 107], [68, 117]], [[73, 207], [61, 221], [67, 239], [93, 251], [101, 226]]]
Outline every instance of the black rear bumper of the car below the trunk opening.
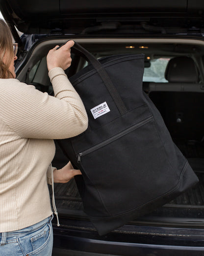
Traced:
[[70, 220], [53, 233], [53, 256], [204, 255], [204, 229], [125, 225], [99, 236], [89, 222]]

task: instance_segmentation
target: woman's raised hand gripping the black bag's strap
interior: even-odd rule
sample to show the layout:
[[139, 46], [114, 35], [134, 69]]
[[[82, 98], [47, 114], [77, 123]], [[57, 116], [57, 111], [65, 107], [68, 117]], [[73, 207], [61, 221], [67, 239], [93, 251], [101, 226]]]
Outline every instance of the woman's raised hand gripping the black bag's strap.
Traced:
[[67, 69], [72, 62], [71, 47], [75, 44], [73, 40], [68, 41], [57, 50], [58, 45], [51, 49], [47, 55], [48, 71], [54, 67], [61, 67], [63, 70]]

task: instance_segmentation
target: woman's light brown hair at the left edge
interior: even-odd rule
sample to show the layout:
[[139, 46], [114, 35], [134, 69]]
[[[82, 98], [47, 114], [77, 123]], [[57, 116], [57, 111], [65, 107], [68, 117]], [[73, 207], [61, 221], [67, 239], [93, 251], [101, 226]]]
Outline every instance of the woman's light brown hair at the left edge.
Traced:
[[9, 71], [13, 58], [12, 33], [8, 25], [0, 19], [0, 78], [14, 78]]

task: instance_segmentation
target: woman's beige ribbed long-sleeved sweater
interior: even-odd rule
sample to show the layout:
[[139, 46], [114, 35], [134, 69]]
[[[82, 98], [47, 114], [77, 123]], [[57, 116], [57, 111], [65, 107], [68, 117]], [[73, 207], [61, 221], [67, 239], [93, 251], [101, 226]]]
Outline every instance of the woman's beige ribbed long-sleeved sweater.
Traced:
[[46, 173], [51, 175], [55, 153], [52, 139], [87, 128], [83, 103], [64, 71], [55, 67], [49, 76], [55, 97], [17, 79], [0, 79], [0, 232], [51, 215]]

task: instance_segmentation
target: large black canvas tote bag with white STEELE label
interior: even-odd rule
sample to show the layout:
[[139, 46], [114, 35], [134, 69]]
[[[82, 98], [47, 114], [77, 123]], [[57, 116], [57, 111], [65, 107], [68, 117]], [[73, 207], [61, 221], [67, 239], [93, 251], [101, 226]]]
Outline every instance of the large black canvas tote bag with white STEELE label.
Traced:
[[144, 55], [115, 55], [70, 78], [89, 119], [82, 134], [59, 140], [75, 168], [83, 207], [99, 234], [153, 211], [198, 182], [162, 117], [143, 93]]

